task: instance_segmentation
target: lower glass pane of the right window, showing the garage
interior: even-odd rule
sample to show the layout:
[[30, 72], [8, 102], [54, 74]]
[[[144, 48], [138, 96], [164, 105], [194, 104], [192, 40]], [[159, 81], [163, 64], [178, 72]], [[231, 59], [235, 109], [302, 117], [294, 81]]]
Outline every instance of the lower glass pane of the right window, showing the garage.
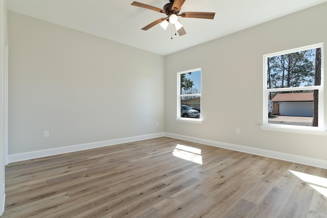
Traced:
[[268, 94], [268, 124], [318, 126], [318, 90]]

